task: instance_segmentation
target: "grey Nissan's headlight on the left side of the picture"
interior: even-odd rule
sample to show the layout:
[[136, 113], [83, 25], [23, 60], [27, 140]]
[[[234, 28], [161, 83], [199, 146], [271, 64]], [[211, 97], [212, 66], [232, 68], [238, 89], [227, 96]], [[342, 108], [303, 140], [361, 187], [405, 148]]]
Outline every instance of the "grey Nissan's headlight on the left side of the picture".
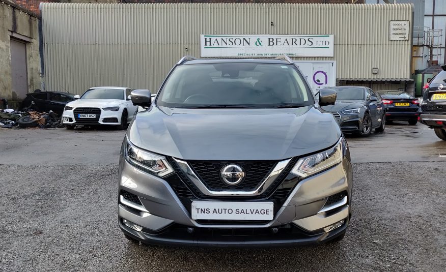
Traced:
[[131, 164], [147, 169], [158, 176], [165, 176], [174, 172], [165, 157], [137, 148], [128, 139], [124, 146], [124, 157]]

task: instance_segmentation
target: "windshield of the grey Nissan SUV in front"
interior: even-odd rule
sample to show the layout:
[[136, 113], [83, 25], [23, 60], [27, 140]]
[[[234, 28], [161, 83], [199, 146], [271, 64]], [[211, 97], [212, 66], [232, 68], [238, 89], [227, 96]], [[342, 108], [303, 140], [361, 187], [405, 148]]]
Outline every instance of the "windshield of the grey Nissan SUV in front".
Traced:
[[293, 65], [258, 63], [178, 66], [158, 95], [171, 108], [277, 108], [313, 105]]

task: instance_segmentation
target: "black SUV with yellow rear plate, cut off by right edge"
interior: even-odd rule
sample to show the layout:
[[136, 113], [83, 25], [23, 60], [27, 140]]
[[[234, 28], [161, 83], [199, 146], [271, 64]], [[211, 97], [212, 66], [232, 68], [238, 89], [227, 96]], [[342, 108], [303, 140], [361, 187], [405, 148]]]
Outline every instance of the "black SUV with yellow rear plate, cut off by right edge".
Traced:
[[446, 140], [446, 65], [424, 89], [420, 123], [435, 130], [438, 138]]

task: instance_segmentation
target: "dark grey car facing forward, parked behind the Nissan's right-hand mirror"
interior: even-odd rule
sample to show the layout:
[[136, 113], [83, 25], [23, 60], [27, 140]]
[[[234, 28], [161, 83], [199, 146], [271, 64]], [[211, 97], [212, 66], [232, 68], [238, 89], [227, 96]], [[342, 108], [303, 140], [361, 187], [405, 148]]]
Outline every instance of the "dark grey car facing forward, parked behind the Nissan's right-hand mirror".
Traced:
[[369, 136], [385, 129], [385, 108], [381, 97], [364, 86], [330, 87], [338, 93], [335, 105], [322, 107], [338, 120], [343, 132]]

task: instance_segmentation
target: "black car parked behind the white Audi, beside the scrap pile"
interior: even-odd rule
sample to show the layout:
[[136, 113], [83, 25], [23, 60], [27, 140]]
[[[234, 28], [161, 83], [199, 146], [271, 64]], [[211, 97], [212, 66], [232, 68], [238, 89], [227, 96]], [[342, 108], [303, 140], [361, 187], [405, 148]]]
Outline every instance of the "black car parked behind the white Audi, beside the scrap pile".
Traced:
[[64, 107], [68, 102], [76, 100], [75, 95], [64, 92], [37, 92], [26, 94], [26, 98], [22, 102], [22, 109], [25, 109], [31, 105], [34, 101], [32, 108], [38, 112], [54, 111], [58, 115], [62, 115]]

